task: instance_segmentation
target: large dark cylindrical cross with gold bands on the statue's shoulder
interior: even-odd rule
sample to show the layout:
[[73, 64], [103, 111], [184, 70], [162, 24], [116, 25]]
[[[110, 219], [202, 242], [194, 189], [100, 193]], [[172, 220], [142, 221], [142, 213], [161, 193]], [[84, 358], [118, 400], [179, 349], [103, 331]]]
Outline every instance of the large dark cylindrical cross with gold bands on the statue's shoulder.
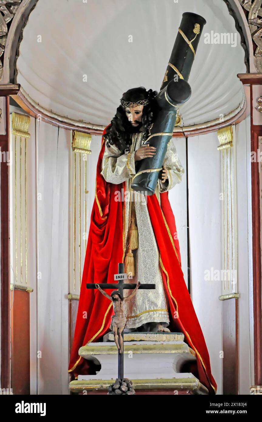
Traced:
[[179, 106], [189, 100], [188, 78], [194, 62], [205, 19], [197, 14], [183, 13], [178, 35], [171, 53], [159, 93], [156, 96], [157, 116], [146, 143], [156, 148], [156, 154], [138, 162], [131, 187], [137, 192], [153, 195], [159, 173], [173, 136]]

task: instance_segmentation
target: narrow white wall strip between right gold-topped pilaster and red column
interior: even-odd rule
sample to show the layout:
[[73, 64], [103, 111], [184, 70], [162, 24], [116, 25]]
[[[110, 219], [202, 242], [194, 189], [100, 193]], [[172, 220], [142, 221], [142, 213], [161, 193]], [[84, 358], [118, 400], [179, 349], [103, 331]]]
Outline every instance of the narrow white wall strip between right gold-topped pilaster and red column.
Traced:
[[[238, 207], [239, 394], [254, 385], [250, 116], [236, 126]], [[249, 293], [250, 292], [250, 293]]]

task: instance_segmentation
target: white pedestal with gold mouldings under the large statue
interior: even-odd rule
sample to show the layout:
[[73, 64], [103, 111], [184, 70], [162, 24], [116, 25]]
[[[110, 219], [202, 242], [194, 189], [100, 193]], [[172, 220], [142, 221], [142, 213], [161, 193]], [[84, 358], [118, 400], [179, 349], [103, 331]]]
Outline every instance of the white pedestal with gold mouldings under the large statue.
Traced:
[[[89, 343], [79, 355], [95, 363], [97, 375], [79, 375], [70, 391], [103, 394], [117, 378], [118, 350], [109, 333], [100, 343]], [[133, 381], [136, 394], [208, 394], [185, 363], [195, 362], [195, 352], [181, 333], [125, 333], [124, 377]]]

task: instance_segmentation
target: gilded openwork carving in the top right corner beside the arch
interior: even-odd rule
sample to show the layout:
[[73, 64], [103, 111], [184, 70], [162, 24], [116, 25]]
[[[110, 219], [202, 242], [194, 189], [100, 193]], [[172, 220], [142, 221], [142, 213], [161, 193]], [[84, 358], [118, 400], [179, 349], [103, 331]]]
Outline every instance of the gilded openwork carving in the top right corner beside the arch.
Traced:
[[262, 73], [262, 0], [238, 0], [248, 14], [248, 25], [252, 40], [257, 44], [254, 54], [254, 65]]

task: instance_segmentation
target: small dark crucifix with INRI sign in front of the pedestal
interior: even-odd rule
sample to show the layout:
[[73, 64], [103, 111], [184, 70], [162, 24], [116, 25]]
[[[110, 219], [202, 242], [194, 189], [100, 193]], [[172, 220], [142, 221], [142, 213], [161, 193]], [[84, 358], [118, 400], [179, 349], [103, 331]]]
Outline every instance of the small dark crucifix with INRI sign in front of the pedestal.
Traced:
[[[124, 330], [126, 324], [126, 317], [124, 315], [123, 303], [132, 299], [135, 296], [138, 289], [155, 289], [155, 284], [135, 284], [135, 283], [124, 283], [124, 280], [127, 279], [127, 274], [124, 273], [124, 264], [118, 264], [118, 274], [114, 274], [114, 280], [118, 281], [117, 284], [114, 283], [86, 283], [86, 289], [98, 289], [106, 298], [112, 300], [114, 315], [112, 317], [112, 329], [114, 340], [118, 348], [118, 378], [124, 378], [124, 342], [122, 337], [122, 331]], [[111, 293], [109, 296], [102, 289], [117, 289]], [[123, 297], [123, 289], [130, 289], [133, 292], [127, 296]]]

